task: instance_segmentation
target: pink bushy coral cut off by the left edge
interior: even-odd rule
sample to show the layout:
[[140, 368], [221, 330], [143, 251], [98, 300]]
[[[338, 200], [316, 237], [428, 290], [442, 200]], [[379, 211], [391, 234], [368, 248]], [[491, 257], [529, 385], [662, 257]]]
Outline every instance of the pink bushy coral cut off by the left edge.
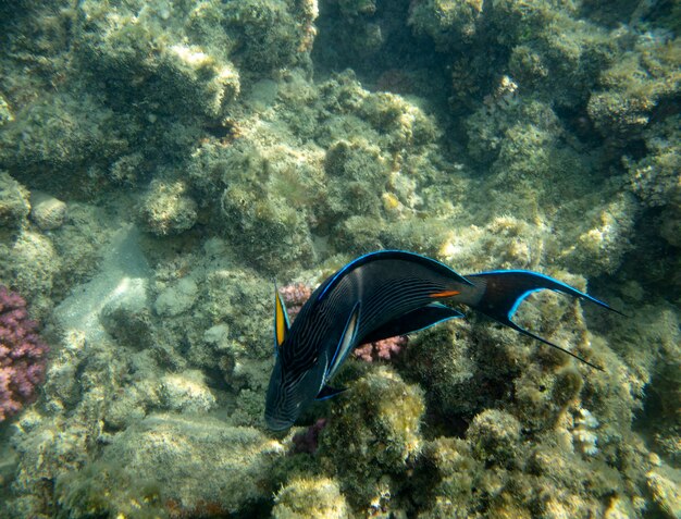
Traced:
[[30, 401], [42, 382], [48, 346], [26, 301], [0, 285], [0, 422]]

